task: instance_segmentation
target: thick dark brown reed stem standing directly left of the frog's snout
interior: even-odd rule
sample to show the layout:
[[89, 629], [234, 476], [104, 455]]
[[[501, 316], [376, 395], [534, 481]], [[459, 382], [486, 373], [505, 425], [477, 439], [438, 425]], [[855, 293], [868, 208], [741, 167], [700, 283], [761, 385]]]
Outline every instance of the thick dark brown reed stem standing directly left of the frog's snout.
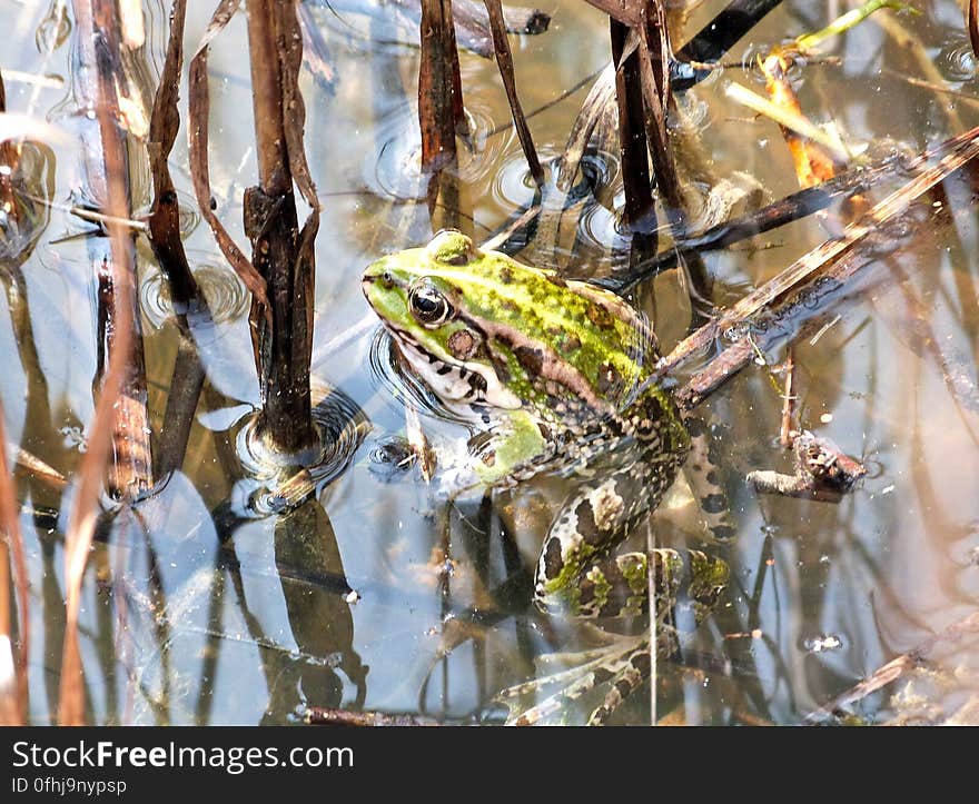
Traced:
[[[248, 12], [258, 186], [245, 192], [245, 232], [271, 304], [268, 328], [251, 311], [259, 331], [263, 399], [257, 431], [277, 451], [299, 456], [318, 438], [310, 416], [309, 365], [319, 201], [304, 146], [303, 36], [291, 0], [251, 0]], [[294, 181], [313, 208], [301, 230]]]

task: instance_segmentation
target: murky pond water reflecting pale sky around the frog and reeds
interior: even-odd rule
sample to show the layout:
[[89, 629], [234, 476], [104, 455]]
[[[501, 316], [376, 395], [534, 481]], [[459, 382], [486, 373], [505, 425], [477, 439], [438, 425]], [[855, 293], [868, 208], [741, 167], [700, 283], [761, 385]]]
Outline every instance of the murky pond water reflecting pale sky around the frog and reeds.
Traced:
[[[156, 72], [167, 13], [157, 0], [146, 6]], [[190, 3], [191, 50], [207, 26], [205, 6]], [[413, 395], [377, 337], [359, 276], [377, 257], [432, 235], [418, 177], [418, 50], [415, 32], [392, 23], [386, 11], [372, 17], [346, 6], [309, 3], [335, 77], [327, 86], [303, 76], [307, 153], [323, 202], [314, 396], [324, 400], [327, 429], [343, 439], [343, 460], [314, 477], [316, 492], [300, 506], [276, 512], [263, 502], [261, 467], [241, 446], [259, 404], [248, 296], [207, 227], [189, 220], [187, 249], [215, 310], [214, 327], [198, 339], [207, 387], [180, 470], [131, 508], [103, 500], [80, 621], [91, 723], [289, 723], [314, 706], [501, 723], [496, 693], [534, 677], [541, 656], [595, 644], [592, 626], [546, 617], [531, 603], [528, 577], [555, 489], [538, 484], [496, 495], [492, 506], [461, 505], [444, 538], [433, 487], [411, 461], [397, 466]], [[554, 101], [609, 58], [600, 12], [577, 0], [550, 6], [546, 33], [511, 38], [525, 110]], [[722, 6], [701, 3], [674, 40], [685, 41]], [[958, 3], [916, 6], [918, 16], [887, 21], [890, 12], [882, 12], [832, 39], [825, 58], [801, 71], [802, 108], [818, 121], [832, 119], [848, 147], [866, 148], [870, 158], [918, 152], [979, 122], [977, 66]], [[729, 60], [750, 61], [847, 8], [787, 0]], [[0, 0], [0, 19], [12, 31], [0, 42], [0, 66], [11, 111], [71, 131], [62, 14], [63, 28], [71, 13], [59, 0]], [[210, 170], [218, 214], [243, 245], [243, 192], [256, 176], [246, 51], [238, 14], [211, 49]], [[769, 200], [792, 192], [798, 186], [778, 127], [733, 103], [724, 92], [731, 81], [763, 92], [756, 72], [731, 67], [682, 99], [700, 120], [712, 172], [750, 173]], [[495, 64], [463, 52], [462, 82], [474, 133], [461, 156], [459, 204], [482, 240], [532, 202], [533, 185], [505, 127], [510, 111]], [[186, 97], [186, 71], [181, 88]], [[532, 117], [542, 158], [562, 152], [586, 88]], [[196, 210], [185, 135], [181, 129], [171, 170], [185, 208]], [[617, 159], [605, 151], [589, 159], [621, 204]], [[30, 570], [29, 718], [44, 724], [57, 713], [63, 535], [93, 413], [98, 345], [95, 281], [79, 236], [90, 227], [67, 211], [81, 186], [76, 142], [52, 146], [40, 169], [48, 171], [50, 217], [26, 261], [2, 264], [10, 305], [0, 311], [0, 354], [9, 371], [0, 397], [11, 460], [19, 446], [69, 479], [61, 488], [23, 469], [17, 476]], [[137, 163], [136, 209], [149, 205], [145, 173]], [[682, 654], [659, 663], [655, 707], [645, 684], [616, 722], [649, 723], [655, 709], [668, 722], [690, 724], [799, 723], [976, 611], [975, 198], [968, 173], [927, 196], [892, 247], [874, 254], [870, 279], [837, 307], [832, 326], [797, 345], [801, 424], [869, 469], [839, 504], [760, 496], [745, 484], [752, 469], [791, 472], [778, 445], [780, 391], [767, 368], [749, 367], [705, 403], [718, 423], [738, 528], [736, 542], [721, 549], [731, 585]], [[577, 248], [572, 222], [560, 248], [535, 244], [524, 258], [568, 276], [607, 272], [613, 221], [592, 205]], [[713, 302], [736, 301], [825, 239], [828, 227], [814, 216], [705, 255]], [[138, 254], [150, 426], [158, 433], [178, 331], [145, 242]], [[675, 271], [631, 299], [655, 309], [664, 351], [702, 322], [683, 299]], [[767, 357], [775, 365], [784, 353]], [[962, 381], [947, 381], [950, 374]], [[424, 407], [421, 415], [436, 440], [466, 436]], [[656, 538], [695, 546], [693, 506], [676, 494], [664, 507], [653, 520]], [[939, 641], [923, 669], [853, 708], [876, 722], [957, 715], [975, 692], [972, 643], [969, 634]], [[581, 722], [589, 711], [585, 702], [562, 717]]]

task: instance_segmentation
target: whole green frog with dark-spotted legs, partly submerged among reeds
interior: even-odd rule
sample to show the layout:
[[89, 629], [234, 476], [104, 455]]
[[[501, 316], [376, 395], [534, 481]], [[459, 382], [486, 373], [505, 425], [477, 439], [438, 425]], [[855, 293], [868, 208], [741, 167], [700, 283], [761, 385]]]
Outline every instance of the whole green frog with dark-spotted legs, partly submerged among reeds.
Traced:
[[[659, 355], [646, 319], [614, 294], [479, 251], [457, 231], [377, 260], [363, 287], [415, 373], [490, 434], [457, 488], [513, 486], [542, 472], [573, 484], [544, 538], [537, 606], [583, 618], [642, 614], [652, 565], [657, 654], [672, 653], [670, 613], [679, 605], [700, 621], [728, 567], [698, 550], [616, 552], [659, 504], [691, 444], [670, 396], [647, 381]], [[650, 664], [649, 642], [634, 638], [577, 668], [553, 701], [604, 684], [591, 716], [602, 723]], [[516, 722], [543, 714], [538, 706]]]

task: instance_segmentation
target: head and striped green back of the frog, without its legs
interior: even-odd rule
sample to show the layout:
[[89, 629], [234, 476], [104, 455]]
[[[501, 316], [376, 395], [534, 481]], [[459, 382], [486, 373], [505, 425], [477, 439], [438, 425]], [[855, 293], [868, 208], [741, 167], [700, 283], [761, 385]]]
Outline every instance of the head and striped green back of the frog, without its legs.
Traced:
[[458, 231], [384, 257], [364, 294], [414, 370], [445, 403], [543, 418], [607, 414], [655, 348], [611, 292], [482, 251]]

